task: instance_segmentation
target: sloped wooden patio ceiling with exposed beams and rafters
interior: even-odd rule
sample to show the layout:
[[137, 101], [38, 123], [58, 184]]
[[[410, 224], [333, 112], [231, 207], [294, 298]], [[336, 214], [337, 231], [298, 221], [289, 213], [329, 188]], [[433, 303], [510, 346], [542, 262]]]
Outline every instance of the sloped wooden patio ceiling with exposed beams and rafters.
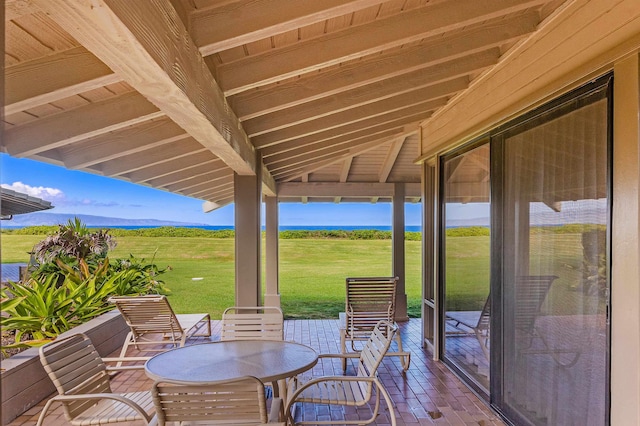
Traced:
[[5, 0], [2, 150], [220, 205], [256, 171], [418, 200], [419, 123], [563, 3]]

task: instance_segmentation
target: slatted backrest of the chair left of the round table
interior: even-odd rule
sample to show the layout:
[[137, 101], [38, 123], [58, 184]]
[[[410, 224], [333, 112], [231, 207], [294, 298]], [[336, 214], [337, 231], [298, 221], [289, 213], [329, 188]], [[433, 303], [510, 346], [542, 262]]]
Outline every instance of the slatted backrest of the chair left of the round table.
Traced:
[[[40, 347], [40, 362], [60, 395], [111, 393], [102, 358], [84, 334], [56, 339]], [[95, 400], [63, 401], [71, 421], [95, 404]]]

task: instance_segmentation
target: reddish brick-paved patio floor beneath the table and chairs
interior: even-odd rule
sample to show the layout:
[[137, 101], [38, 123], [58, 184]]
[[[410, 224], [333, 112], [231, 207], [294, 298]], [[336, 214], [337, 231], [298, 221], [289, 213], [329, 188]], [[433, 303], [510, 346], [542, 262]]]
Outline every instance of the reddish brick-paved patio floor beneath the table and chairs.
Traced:
[[[403, 345], [412, 353], [411, 368], [406, 375], [402, 374], [402, 367], [396, 357], [387, 357], [379, 369], [381, 380], [393, 398], [397, 411], [398, 425], [468, 425], [491, 426], [503, 425], [502, 421], [474, 395], [455, 375], [442, 363], [433, 360], [432, 356], [422, 348], [421, 325], [419, 319], [412, 319], [401, 324]], [[220, 339], [220, 322], [212, 321], [212, 340]], [[189, 344], [204, 341], [198, 337], [189, 340]], [[339, 333], [337, 320], [286, 320], [285, 340], [295, 341], [313, 347], [320, 353], [339, 352]], [[115, 355], [115, 354], [114, 354]], [[353, 374], [353, 366], [349, 367], [349, 374]], [[324, 369], [318, 364], [312, 371], [304, 373], [303, 377], [314, 375], [342, 374], [339, 362], [324, 364]], [[144, 372], [121, 372], [114, 378], [114, 392], [147, 390], [152, 381]], [[26, 426], [35, 424], [45, 401], [31, 408], [7, 426]], [[384, 405], [384, 404], [383, 404]], [[326, 407], [307, 407], [300, 410], [299, 416], [322, 418], [326, 415]], [[363, 416], [367, 416], [367, 409]], [[340, 416], [357, 418], [358, 410], [332, 411], [335, 419]], [[337, 417], [336, 417], [337, 416]], [[60, 407], [51, 411], [47, 416], [47, 425], [66, 425], [64, 414]], [[123, 423], [124, 424], [124, 423]], [[135, 425], [138, 423], [131, 423]], [[141, 423], [140, 423], [141, 424]], [[378, 417], [377, 425], [388, 425], [389, 418], [386, 411]]]

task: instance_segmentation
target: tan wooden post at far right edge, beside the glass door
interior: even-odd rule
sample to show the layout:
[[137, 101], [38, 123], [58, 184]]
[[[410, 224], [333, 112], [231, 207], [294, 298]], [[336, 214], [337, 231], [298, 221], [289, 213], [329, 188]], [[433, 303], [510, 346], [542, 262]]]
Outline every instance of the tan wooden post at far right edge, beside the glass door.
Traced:
[[640, 424], [640, 55], [613, 68], [611, 424]]

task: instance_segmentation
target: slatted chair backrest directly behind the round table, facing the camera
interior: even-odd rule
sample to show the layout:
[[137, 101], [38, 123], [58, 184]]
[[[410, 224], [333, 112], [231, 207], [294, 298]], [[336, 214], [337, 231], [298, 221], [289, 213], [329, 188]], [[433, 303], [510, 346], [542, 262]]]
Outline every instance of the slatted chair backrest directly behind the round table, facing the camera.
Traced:
[[221, 340], [284, 340], [284, 316], [275, 306], [233, 306], [222, 313]]

